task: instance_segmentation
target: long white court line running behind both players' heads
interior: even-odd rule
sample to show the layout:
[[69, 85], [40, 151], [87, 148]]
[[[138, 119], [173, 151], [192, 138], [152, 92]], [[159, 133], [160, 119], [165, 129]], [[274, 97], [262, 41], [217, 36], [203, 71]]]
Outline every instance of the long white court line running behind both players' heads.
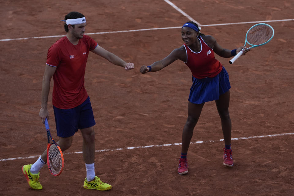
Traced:
[[[220, 25], [239, 25], [239, 24], [248, 24], [248, 23], [281, 22], [281, 21], [294, 21], [294, 19], [283, 19], [283, 20], [272, 20], [272, 21], [236, 22], [236, 23], [223, 23], [223, 24], [212, 24], [212, 25], [201, 25], [201, 26], [203, 26], [203, 27], [209, 27], [209, 26], [220, 26]], [[144, 28], [144, 29], [125, 30], [125, 31], [109, 31], [109, 32], [85, 33], [85, 35], [108, 34], [108, 33], [125, 33], [125, 32], [136, 32], [136, 31], [151, 31], [151, 30], [172, 29], [172, 28], [182, 28], [182, 26], [180, 26], [180, 27], [163, 27], [163, 28]], [[23, 38], [13, 38], [13, 39], [2, 39], [0, 41], [41, 39], [41, 38], [51, 38], [51, 37], [63, 37], [63, 36], [65, 36], [65, 35], [59, 35], [59, 36], [41, 36], [41, 37], [23, 37]]]

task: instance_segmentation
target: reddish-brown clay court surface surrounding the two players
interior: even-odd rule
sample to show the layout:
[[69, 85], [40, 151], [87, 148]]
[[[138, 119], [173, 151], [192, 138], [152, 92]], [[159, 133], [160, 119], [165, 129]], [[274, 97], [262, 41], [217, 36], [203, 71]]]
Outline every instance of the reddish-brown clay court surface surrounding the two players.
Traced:
[[[164, 0], [0, 0], [0, 195], [293, 195], [294, 2], [171, 2], [176, 7]], [[135, 64], [125, 71], [91, 53], [86, 67], [96, 120], [96, 175], [113, 186], [110, 191], [83, 188], [80, 132], [64, 152], [61, 175], [51, 175], [46, 166], [40, 171], [42, 190], [30, 189], [21, 171], [47, 147], [38, 116], [42, 77], [48, 48], [65, 35], [59, 21], [71, 11], [85, 15], [85, 33], [100, 46]], [[177, 166], [191, 72], [181, 61], [156, 73], [143, 75], [139, 69], [183, 44], [180, 27], [189, 17], [228, 49], [243, 45], [247, 30], [260, 21], [267, 21], [275, 36], [233, 65], [216, 55], [232, 86], [234, 166], [222, 164], [220, 118], [215, 103], [208, 102], [188, 151], [189, 173], [181, 176]], [[52, 87], [53, 80], [49, 125], [58, 140]]]

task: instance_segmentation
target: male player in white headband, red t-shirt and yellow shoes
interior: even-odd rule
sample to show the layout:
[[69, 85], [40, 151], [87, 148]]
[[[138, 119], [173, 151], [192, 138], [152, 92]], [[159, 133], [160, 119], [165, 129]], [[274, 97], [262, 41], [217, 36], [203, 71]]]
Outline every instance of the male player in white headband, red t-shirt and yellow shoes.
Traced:
[[[126, 63], [121, 58], [100, 47], [91, 37], [84, 35], [86, 19], [78, 12], [70, 12], [65, 16], [64, 29], [66, 36], [55, 42], [48, 50], [47, 62], [43, 76], [41, 92], [41, 109], [39, 116], [44, 123], [48, 119], [48, 94], [53, 77], [53, 108], [57, 142], [62, 151], [70, 148], [73, 136], [81, 130], [83, 137], [83, 157], [87, 176], [84, 188], [110, 190], [111, 185], [103, 183], [95, 175], [95, 125], [90, 98], [84, 86], [85, 67], [89, 51], [100, 55], [114, 65], [125, 70], [134, 69], [133, 63]], [[30, 187], [42, 189], [39, 182], [40, 169], [46, 164], [47, 150], [34, 164], [24, 165], [22, 171]]]

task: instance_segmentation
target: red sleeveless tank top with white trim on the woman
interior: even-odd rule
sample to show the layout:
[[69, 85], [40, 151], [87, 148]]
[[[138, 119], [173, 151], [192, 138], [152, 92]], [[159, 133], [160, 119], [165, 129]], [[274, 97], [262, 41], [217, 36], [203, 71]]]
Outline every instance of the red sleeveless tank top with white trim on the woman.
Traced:
[[[199, 38], [198, 38], [199, 39]], [[187, 62], [186, 65], [190, 68], [192, 75], [198, 79], [205, 77], [215, 77], [221, 72], [223, 66], [214, 57], [213, 49], [211, 49], [200, 37], [201, 51], [193, 52], [186, 44]]]

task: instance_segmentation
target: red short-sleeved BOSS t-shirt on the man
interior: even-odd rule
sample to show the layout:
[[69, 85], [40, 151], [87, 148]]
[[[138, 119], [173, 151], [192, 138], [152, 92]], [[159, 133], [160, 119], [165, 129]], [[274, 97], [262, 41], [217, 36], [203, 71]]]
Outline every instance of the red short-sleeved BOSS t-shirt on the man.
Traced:
[[88, 97], [85, 89], [85, 68], [89, 51], [98, 44], [84, 35], [77, 45], [66, 36], [55, 42], [48, 50], [49, 66], [57, 67], [53, 75], [53, 105], [60, 109], [70, 109], [82, 104]]

